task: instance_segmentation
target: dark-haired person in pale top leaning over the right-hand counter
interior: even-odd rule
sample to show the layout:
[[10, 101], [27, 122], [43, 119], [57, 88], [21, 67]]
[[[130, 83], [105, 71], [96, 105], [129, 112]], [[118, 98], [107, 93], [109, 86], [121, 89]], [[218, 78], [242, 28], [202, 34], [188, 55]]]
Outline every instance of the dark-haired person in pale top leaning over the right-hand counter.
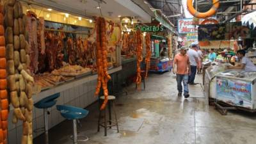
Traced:
[[246, 71], [256, 72], [256, 66], [250, 61], [246, 56], [246, 51], [244, 49], [237, 51], [237, 56], [241, 63], [237, 66], [228, 67], [228, 69], [240, 69]]

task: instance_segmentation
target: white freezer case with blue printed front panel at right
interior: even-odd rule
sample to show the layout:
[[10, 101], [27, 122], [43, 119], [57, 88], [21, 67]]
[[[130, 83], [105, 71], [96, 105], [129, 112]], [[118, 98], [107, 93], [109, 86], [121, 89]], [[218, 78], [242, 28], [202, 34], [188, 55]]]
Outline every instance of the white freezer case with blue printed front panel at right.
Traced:
[[256, 111], [256, 72], [226, 70], [216, 76], [216, 99], [246, 111]]

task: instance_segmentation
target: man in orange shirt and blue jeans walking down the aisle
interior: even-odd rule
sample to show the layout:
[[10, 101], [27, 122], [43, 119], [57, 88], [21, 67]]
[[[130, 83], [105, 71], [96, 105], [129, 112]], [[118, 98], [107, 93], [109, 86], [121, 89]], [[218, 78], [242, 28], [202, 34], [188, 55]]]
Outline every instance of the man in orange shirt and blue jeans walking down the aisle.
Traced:
[[184, 86], [184, 97], [189, 97], [188, 74], [190, 73], [189, 56], [186, 54], [186, 47], [180, 48], [180, 53], [176, 54], [173, 60], [173, 74], [176, 74], [178, 96], [182, 95], [182, 84]]

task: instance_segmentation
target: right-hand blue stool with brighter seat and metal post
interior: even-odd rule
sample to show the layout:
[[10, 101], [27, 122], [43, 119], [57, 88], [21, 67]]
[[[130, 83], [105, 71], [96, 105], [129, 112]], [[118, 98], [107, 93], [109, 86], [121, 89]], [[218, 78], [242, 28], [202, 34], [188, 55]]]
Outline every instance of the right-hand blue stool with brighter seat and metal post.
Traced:
[[77, 128], [76, 128], [76, 120], [84, 118], [88, 115], [89, 111], [86, 109], [77, 108], [74, 106], [63, 106], [63, 105], [57, 105], [58, 111], [60, 111], [61, 116], [64, 118], [67, 118], [68, 120], [73, 120], [73, 136], [71, 136], [73, 143], [77, 144], [77, 141], [87, 141], [89, 138], [86, 136], [81, 136], [86, 139], [84, 140], [77, 140]]

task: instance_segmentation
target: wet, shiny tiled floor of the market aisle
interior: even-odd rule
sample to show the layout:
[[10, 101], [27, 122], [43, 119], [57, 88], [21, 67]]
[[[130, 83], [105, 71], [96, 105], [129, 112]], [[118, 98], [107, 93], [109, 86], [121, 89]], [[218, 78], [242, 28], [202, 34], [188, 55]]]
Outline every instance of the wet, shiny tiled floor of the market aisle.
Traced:
[[[195, 83], [201, 83], [196, 77]], [[104, 129], [97, 132], [98, 104], [89, 108], [90, 114], [77, 126], [79, 134], [90, 138], [87, 144], [179, 144], [179, 143], [255, 143], [256, 115], [243, 112], [228, 113], [221, 116], [205, 102], [200, 84], [189, 86], [189, 99], [177, 97], [175, 76], [171, 72], [150, 74], [146, 90], [134, 91], [129, 86], [129, 95], [119, 96], [118, 122], [121, 131]], [[50, 143], [70, 144], [71, 121], [66, 120], [49, 132]], [[36, 138], [41, 144], [44, 137]]]

